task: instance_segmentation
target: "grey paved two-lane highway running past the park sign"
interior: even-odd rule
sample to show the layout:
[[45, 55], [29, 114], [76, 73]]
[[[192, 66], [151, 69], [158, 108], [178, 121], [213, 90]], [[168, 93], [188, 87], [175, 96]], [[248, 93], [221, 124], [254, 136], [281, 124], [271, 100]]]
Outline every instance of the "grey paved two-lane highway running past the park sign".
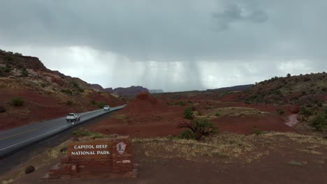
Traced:
[[[92, 118], [115, 111], [117, 109], [122, 109], [124, 107], [125, 105], [122, 105], [119, 107], [111, 107], [110, 111], [99, 109], [92, 112], [80, 113], [80, 121], [75, 121], [74, 125], [84, 123]], [[49, 121], [23, 125], [10, 130], [0, 131], [0, 158], [3, 155], [8, 155], [13, 151], [29, 146], [36, 141], [56, 135], [61, 131], [67, 130], [68, 128], [72, 128], [74, 125], [72, 122], [67, 122], [65, 116]]]

